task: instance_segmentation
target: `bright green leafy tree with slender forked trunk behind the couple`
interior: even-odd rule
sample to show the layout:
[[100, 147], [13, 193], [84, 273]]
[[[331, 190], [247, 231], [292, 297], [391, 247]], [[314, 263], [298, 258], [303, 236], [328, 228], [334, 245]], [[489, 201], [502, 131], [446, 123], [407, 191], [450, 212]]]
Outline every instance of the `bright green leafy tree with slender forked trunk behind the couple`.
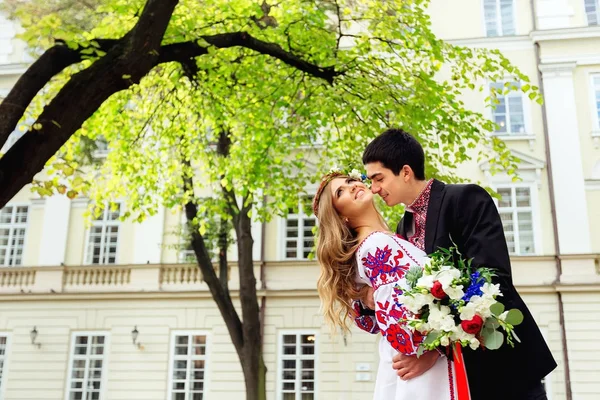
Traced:
[[[40, 56], [0, 105], [0, 143], [19, 119], [35, 120], [0, 158], [0, 205], [47, 165], [51, 178], [34, 181], [41, 195], [86, 193], [100, 206], [125, 199], [123, 217], [137, 221], [162, 205], [183, 207], [247, 399], [265, 397], [251, 220], [297, 203], [315, 178], [307, 161], [318, 170], [356, 163], [374, 134], [402, 125], [432, 155], [429, 176], [456, 180], [456, 164], [489, 154], [514, 168], [488, 135], [493, 123], [460, 95], [506, 74], [527, 77], [498, 52], [437, 39], [425, 0], [97, 4], [95, 17], [84, 13], [86, 30], [63, 23], [72, 15], [60, 7], [35, 18], [14, 8]], [[537, 96], [530, 85], [520, 90]], [[100, 138], [106, 160], [83, 167]], [[224, 247], [230, 229], [241, 318], [226, 252], [217, 275], [207, 242], [212, 234]]]

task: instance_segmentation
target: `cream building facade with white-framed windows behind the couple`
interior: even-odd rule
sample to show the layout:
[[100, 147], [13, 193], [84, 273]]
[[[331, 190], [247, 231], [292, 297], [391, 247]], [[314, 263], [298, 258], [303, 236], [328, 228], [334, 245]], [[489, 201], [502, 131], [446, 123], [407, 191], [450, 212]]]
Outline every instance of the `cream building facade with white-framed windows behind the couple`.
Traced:
[[[521, 181], [491, 175], [487, 162], [459, 173], [501, 196], [515, 284], [559, 364], [549, 399], [598, 399], [599, 0], [432, 0], [429, 14], [441, 38], [501, 50], [543, 91], [543, 106], [514, 93], [493, 111], [485, 91], [465, 93], [520, 158]], [[0, 95], [30, 61], [16, 31], [0, 18]], [[222, 318], [177, 246], [181, 213], [134, 224], [119, 209], [87, 226], [87, 205], [24, 188], [0, 212], [0, 399], [242, 398]], [[298, 207], [253, 227], [268, 398], [370, 398], [379, 337], [324, 326], [307, 259], [314, 225]]]

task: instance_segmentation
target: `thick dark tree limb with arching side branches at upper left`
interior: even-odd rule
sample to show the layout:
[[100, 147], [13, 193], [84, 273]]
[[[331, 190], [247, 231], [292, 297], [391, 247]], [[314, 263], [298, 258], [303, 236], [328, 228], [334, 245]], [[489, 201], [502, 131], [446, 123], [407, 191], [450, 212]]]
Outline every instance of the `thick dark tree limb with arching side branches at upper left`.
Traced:
[[[26, 132], [0, 158], [0, 187], [3, 189], [0, 207], [33, 180], [47, 160], [111, 95], [139, 82], [160, 63], [187, 63], [190, 59], [208, 54], [207, 47], [192, 41], [161, 46], [177, 3], [178, 0], [148, 0], [137, 24], [123, 38], [96, 39], [100, 50], [106, 54], [90, 67], [73, 75], [44, 108], [35, 129]], [[320, 67], [276, 43], [256, 39], [246, 32], [203, 36], [201, 39], [218, 48], [239, 46], [269, 55], [329, 84], [333, 84], [334, 78], [342, 74], [333, 66]], [[82, 60], [82, 50], [57, 44], [23, 74], [0, 104], [0, 144], [6, 142], [25, 109], [44, 85], [69, 65]]]

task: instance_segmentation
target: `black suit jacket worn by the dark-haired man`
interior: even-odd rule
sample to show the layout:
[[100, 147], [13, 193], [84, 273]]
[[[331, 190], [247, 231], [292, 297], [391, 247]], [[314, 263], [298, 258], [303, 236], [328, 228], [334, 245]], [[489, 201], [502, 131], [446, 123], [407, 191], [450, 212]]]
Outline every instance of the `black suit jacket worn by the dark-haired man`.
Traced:
[[[413, 215], [406, 212], [397, 232], [406, 237]], [[513, 282], [500, 215], [492, 197], [478, 185], [446, 185], [434, 180], [427, 208], [425, 251], [449, 248], [452, 241], [474, 266], [496, 273], [506, 309], [518, 308], [524, 321], [515, 327], [521, 343], [498, 350], [464, 349], [472, 400], [517, 400], [556, 368], [556, 362]]]

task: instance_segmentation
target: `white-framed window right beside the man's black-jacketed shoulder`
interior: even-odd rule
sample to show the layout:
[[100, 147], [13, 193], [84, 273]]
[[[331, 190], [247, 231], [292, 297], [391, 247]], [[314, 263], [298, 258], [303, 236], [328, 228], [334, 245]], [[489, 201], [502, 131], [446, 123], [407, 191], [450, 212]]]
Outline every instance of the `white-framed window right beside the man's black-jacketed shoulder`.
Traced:
[[498, 212], [510, 254], [535, 254], [531, 187], [499, 187]]

